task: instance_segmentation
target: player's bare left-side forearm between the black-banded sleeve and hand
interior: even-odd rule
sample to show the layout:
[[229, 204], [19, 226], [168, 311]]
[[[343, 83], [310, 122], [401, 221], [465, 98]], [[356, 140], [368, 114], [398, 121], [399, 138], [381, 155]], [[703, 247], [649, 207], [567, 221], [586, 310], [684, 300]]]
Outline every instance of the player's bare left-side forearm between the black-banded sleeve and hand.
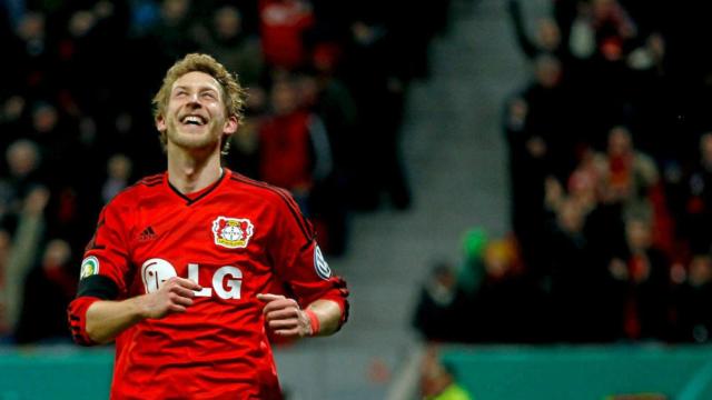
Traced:
[[100, 300], [87, 309], [87, 334], [97, 343], [108, 343], [146, 317], [142, 297], [122, 301]]

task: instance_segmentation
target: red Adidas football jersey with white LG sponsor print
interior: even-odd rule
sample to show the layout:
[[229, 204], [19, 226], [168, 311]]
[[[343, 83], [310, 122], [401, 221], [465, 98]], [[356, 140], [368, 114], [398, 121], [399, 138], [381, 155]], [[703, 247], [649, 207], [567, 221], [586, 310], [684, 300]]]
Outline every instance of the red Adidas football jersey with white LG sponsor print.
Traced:
[[[126, 299], [175, 276], [202, 290], [186, 312], [146, 319], [117, 338], [111, 399], [281, 398], [256, 294], [288, 293], [303, 308], [333, 300], [346, 318], [345, 283], [291, 197], [227, 169], [188, 197], [167, 173], [146, 178], [101, 212], [82, 280], [113, 282]], [[76, 338], [82, 299], [80, 289], [69, 309]]]

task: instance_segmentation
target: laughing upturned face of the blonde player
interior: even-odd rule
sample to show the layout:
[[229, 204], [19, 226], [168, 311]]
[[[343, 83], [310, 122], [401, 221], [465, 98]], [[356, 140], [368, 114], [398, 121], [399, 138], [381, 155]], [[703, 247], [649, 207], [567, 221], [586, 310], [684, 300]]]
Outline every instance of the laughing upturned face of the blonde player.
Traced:
[[222, 134], [234, 133], [237, 119], [226, 116], [225, 99], [215, 78], [194, 71], [174, 82], [156, 128], [166, 131], [169, 148], [206, 149], [219, 147]]

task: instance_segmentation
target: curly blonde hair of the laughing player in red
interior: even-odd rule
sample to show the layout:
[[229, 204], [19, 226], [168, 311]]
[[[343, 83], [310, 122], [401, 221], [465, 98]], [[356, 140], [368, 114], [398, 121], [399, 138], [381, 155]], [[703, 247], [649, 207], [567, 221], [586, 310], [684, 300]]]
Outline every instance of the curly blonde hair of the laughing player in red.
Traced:
[[[212, 57], [201, 53], [187, 54], [181, 60], [176, 61], [176, 63], [168, 69], [168, 72], [166, 72], [166, 77], [164, 78], [164, 82], [156, 96], [154, 96], [154, 100], [151, 102], [154, 106], [154, 119], [164, 117], [166, 108], [168, 107], [170, 90], [172, 89], [176, 80], [188, 72], [196, 71], [205, 72], [218, 81], [221, 90], [220, 94], [222, 94], [222, 102], [225, 103], [225, 112], [228, 117], [235, 117], [239, 124], [243, 121], [245, 89], [240, 87], [236, 74], [231, 74], [225, 66], [219, 63]], [[230, 147], [229, 141], [226, 139], [227, 137], [222, 138], [222, 154], [227, 154], [227, 150]], [[166, 147], [166, 132], [160, 132], [160, 142], [164, 144], [164, 148]]]

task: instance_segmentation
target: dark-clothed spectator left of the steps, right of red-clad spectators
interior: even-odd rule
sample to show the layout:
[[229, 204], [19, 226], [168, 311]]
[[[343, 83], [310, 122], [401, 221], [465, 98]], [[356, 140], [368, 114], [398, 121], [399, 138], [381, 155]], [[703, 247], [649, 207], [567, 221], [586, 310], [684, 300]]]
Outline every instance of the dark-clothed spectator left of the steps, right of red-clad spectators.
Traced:
[[406, 79], [386, 16], [379, 8], [368, 10], [373, 14], [358, 16], [349, 27], [343, 66], [358, 111], [358, 134], [348, 143], [348, 197], [355, 209], [374, 210], [385, 192], [395, 208], [404, 210], [411, 206], [399, 146]]

